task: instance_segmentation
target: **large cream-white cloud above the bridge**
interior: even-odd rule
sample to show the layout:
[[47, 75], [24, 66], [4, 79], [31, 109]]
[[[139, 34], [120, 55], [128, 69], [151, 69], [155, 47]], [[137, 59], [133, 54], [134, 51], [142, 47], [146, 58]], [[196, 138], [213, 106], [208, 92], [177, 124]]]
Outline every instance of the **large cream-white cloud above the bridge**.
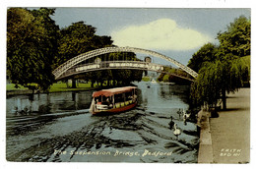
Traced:
[[121, 28], [113, 31], [111, 37], [118, 46], [160, 50], [190, 50], [212, 41], [207, 34], [191, 28], [180, 28], [170, 19]]

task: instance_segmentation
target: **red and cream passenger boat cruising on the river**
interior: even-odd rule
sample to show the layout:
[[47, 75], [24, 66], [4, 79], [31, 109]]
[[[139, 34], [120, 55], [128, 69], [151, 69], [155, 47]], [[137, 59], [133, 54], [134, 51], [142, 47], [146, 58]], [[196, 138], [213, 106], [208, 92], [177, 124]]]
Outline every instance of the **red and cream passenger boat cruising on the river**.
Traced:
[[102, 89], [93, 93], [90, 112], [93, 115], [102, 113], [118, 113], [132, 109], [136, 105], [136, 86]]

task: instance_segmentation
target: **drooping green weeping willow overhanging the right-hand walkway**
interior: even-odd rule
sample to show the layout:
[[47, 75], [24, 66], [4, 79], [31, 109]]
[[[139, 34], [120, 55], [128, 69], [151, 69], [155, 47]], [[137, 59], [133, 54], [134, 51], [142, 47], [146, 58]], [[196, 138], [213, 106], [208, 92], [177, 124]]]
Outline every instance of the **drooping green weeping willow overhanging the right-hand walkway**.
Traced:
[[250, 72], [249, 67], [249, 56], [206, 62], [191, 86], [194, 104], [217, 106], [222, 98], [223, 108], [226, 109], [225, 93], [235, 92], [242, 86], [244, 74]]

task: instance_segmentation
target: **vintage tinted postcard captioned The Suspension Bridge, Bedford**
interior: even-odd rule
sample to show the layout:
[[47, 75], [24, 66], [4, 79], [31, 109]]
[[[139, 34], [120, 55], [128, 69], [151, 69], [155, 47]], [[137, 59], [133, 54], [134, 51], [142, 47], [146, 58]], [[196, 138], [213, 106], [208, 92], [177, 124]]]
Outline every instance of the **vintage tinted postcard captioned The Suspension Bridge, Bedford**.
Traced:
[[8, 162], [251, 162], [250, 8], [6, 15]]

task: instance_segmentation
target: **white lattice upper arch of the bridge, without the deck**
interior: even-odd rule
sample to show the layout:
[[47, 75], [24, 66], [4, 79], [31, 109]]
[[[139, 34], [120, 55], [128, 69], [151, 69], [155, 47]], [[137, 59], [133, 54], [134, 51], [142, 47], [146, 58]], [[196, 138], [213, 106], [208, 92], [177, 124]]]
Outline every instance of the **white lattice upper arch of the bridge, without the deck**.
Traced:
[[174, 59], [171, 59], [165, 55], [162, 55], [162, 54], [152, 51], [152, 50], [135, 48], [135, 47], [105, 47], [105, 48], [92, 50], [92, 51], [83, 53], [81, 55], [78, 55], [78, 56], [68, 60], [67, 62], [60, 65], [58, 68], [56, 68], [52, 72], [52, 74], [55, 76], [55, 79], [57, 80], [59, 77], [61, 77], [62, 74], [64, 74], [66, 71], [68, 71], [70, 68], [74, 67], [75, 65], [77, 65], [85, 60], [88, 60], [90, 58], [96, 57], [97, 55], [113, 53], [113, 52], [134, 52], [134, 53], [143, 53], [143, 54], [159, 57], [163, 60], [166, 60], [166, 61], [176, 65], [177, 67], [179, 67], [180, 69], [182, 69], [183, 71], [185, 71], [186, 73], [188, 73], [189, 75], [191, 75], [194, 78], [196, 78], [198, 76], [198, 74], [195, 71], [193, 71], [189, 67], [179, 63], [178, 61], [176, 61]]

